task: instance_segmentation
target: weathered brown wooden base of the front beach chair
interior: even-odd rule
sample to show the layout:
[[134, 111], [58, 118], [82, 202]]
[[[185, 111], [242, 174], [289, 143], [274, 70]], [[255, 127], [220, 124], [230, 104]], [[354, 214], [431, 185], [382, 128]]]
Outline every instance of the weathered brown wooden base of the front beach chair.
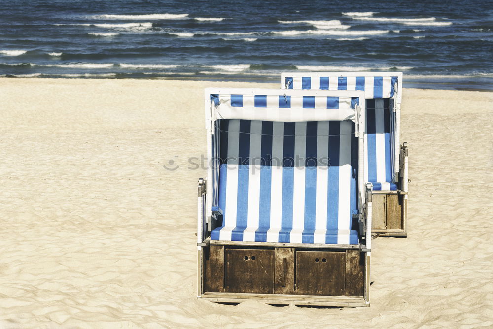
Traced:
[[359, 249], [210, 244], [201, 298], [273, 304], [368, 306], [369, 255]]

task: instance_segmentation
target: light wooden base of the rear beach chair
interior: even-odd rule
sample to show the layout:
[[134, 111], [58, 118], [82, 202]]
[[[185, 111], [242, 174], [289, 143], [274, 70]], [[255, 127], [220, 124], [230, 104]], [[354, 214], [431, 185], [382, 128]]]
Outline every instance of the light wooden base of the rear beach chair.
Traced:
[[400, 193], [372, 194], [372, 233], [381, 236], [407, 236], [406, 202]]

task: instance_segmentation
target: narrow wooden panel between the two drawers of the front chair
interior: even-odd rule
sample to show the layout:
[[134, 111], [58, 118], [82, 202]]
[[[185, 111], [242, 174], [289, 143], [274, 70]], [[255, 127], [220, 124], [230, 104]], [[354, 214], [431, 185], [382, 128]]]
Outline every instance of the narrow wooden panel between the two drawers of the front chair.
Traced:
[[294, 248], [276, 248], [274, 293], [294, 294]]

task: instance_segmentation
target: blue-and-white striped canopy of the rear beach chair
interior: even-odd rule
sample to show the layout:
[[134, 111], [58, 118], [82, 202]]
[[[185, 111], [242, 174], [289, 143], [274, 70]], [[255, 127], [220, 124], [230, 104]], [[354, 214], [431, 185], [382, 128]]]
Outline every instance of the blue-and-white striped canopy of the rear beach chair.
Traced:
[[363, 90], [367, 99], [391, 98], [397, 76], [286, 76], [285, 89]]

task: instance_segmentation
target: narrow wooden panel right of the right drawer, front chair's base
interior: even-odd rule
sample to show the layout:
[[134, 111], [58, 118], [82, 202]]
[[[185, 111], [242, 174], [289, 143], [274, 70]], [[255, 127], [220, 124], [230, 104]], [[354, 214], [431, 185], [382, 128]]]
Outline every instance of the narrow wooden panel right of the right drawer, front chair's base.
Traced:
[[346, 250], [346, 296], [364, 295], [364, 254], [359, 250]]

